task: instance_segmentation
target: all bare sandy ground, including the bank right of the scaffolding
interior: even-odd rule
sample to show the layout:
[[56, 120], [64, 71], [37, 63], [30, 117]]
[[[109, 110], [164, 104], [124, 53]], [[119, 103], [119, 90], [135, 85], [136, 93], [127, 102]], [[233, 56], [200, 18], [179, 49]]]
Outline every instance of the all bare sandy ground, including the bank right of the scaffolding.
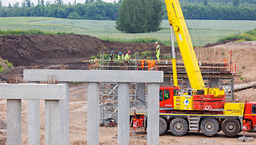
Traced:
[[[233, 59], [237, 61], [237, 77], [236, 83], [252, 82], [256, 81], [256, 42], [233, 42], [227, 43], [221, 46], [227, 49], [233, 50]], [[241, 71], [241, 72], [240, 72]], [[243, 77], [243, 79], [240, 79]], [[87, 85], [86, 83], [79, 83], [71, 85], [70, 87], [70, 102], [69, 102], [69, 144], [84, 145], [87, 137]], [[243, 91], [235, 92], [235, 97], [239, 101], [256, 101], [255, 88], [248, 88]], [[44, 101], [40, 102], [41, 110], [41, 144], [44, 144]], [[28, 101], [23, 101], [22, 112], [22, 144], [28, 144]], [[6, 120], [6, 100], [0, 100], [0, 120]], [[1, 129], [1, 128], [0, 128]], [[132, 132], [132, 128], [131, 128]], [[141, 136], [146, 136], [146, 133], [142, 130], [137, 130], [137, 133]], [[114, 138], [117, 135], [117, 128], [105, 128], [100, 127], [100, 144], [110, 145], [116, 144], [117, 139]], [[240, 143], [238, 137], [242, 133], [239, 133], [237, 137], [228, 138], [222, 132], [218, 133], [212, 138], [205, 137], [202, 133], [190, 132], [183, 137], [175, 137], [172, 133], [165, 133], [160, 137], [161, 145], [172, 144], [190, 144], [190, 145], [256, 145], [256, 133], [246, 133], [247, 136], [255, 138], [251, 143]], [[6, 137], [6, 130], [0, 130], [0, 144], [1, 138]], [[144, 145], [146, 139], [131, 138], [130, 144]]]

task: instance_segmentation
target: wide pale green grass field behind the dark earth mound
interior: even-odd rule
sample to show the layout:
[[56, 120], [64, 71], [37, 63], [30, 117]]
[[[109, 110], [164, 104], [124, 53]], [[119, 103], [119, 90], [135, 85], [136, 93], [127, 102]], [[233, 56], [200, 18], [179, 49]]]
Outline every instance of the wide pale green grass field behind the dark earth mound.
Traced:
[[[187, 20], [187, 27], [195, 46], [217, 42], [219, 38], [256, 28], [256, 21]], [[115, 21], [70, 20], [60, 18], [0, 18], [0, 29], [40, 29], [46, 32], [74, 32], [110, 41], [132, 42], [134, 39], [159, 40], [170, 44], [167, 20], [161, 31], [127, 34], [115, 29]]]

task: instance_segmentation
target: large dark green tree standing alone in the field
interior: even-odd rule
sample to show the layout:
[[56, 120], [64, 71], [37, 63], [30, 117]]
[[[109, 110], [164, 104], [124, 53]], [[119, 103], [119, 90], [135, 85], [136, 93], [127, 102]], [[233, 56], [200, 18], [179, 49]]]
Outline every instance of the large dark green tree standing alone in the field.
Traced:
[[115, 22], [121, 32], [155, 32], [159, 30], [162, 17], [160, 0], [124, 0]]

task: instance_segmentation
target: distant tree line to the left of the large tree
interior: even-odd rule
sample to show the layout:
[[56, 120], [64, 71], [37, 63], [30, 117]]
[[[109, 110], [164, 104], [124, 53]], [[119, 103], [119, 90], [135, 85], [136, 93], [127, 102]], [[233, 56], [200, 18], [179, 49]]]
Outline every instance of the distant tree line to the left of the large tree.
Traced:
[[[1, 2], [1, 0], [0, 0]], [[1, 4], [1, 3], [0, 3]], [[0, 5], [0, 17], [51, 17], [70, 19], [90, 19], [90, 20], [116, 20], [118, 17], [118, 7], [120, 2], [110, 3], [100, 0], [86, 0], [84, 3], [64, 4], [62, 0], [56, 0], [54, 4], [38, 1], [34, 6], [30, 0], [24, 0], [21, 7], [16, 2], [8, 7]]]

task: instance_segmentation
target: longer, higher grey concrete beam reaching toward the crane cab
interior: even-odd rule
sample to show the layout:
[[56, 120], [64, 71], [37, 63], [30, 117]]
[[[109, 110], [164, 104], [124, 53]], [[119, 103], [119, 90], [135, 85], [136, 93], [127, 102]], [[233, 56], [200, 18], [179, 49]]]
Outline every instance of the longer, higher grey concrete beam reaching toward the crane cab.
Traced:
[[58, 82], [163, 82], [162, 71], [23, 70], [25, 81], [47, 81], [51, 75], [58, 76]]

